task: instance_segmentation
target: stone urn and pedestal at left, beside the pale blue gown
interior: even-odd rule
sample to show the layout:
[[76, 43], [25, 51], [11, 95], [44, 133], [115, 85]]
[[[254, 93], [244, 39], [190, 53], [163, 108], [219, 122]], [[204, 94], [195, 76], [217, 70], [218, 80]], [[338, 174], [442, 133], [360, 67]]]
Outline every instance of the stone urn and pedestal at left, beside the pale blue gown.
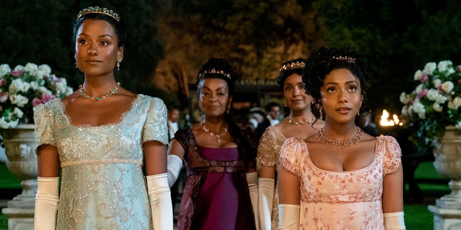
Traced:
[[35, 125], [20, 124], [2, 132], [8, 160], [6, 167], [21, 178], [23, 191], [8, 201], [2, 209], [8, 217], [9, 230], [34, 229], [35, 195], [37, 193], [37, 155], [35, 153]]

